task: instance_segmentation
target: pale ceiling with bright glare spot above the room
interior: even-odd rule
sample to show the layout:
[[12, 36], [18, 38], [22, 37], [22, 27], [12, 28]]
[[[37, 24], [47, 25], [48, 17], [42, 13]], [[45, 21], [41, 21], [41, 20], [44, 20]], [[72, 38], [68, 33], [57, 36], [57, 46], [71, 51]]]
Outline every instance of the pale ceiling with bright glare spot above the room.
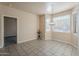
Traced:
[[76, 2], [4, 2], [4, 5], [26, 12], [40, 14], [53, 14], [73, 8]]

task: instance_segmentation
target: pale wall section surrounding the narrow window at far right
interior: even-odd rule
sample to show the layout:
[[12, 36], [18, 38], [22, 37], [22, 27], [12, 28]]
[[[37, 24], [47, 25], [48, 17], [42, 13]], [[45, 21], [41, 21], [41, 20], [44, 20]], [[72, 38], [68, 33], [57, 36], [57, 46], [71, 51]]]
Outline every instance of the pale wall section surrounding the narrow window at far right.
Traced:
[[[74, 27], [72, 27], [72, 39], [73, 39], [73, 43], [74, 45], [79, 49], [79, 4], [73, 9], [73, 17], [74, 14], [76, 16], [76, 20], [77, 20], [77, 25], [76, 25], [76, 29], [77, 29], [77, 33], [74, 33]], [[73, 18], [73, 20], [75, 20], [75, 18]], [[74, 21], [73, 21], [74, 24]]]

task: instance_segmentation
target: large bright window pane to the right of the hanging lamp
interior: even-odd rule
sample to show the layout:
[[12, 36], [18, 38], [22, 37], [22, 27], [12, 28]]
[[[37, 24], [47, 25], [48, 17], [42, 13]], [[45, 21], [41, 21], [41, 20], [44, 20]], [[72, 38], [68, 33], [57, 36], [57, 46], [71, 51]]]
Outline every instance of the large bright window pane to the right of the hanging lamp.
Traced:
[[70, 15], [60, 16], [53, 18], [53, 22], [55, 23], [52, 26], [53, 31], [57, 32], [69, 32], [70, 31]]

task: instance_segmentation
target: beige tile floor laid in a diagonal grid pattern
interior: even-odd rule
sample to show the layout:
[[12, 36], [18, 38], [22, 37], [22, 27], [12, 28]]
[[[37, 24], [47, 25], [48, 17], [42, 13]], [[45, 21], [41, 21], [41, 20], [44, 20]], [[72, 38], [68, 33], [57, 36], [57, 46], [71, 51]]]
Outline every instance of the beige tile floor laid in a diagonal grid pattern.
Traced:
[[53, 40], [32, 40], [0, 49], [1, 56], [78, 56], [77, 49]]

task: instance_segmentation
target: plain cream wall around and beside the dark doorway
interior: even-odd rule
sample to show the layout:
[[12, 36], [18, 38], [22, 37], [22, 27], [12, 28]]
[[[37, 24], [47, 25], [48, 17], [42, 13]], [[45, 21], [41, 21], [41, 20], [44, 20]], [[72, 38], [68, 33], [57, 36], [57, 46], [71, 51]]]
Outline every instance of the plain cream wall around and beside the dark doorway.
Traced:
[[[18, 43], [34, 40], [37, 38], [37, 16], [35, 14], [23, 12], [21, 10], [17, 10], [17, 9], [5, 7], [5, 6], [0, 6], [0, 14], [3, 16], [7, 15], [10, 17], [17, 18], [17, 42]], [[1, 42], [3, 42], [3, 40], [0, 41], [0, 43]]]

